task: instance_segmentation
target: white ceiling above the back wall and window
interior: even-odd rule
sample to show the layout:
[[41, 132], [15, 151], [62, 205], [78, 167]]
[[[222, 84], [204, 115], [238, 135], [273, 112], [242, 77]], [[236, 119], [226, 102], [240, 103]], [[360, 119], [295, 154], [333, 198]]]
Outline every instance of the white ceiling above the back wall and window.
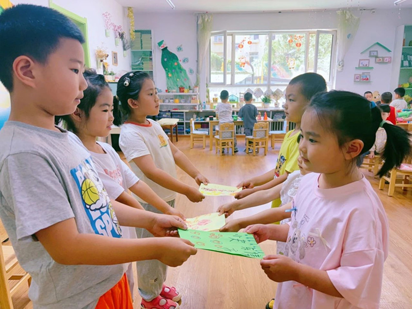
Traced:
[[[166, 0], [116, 0], [139, 12], [172, 12]], [[394, 0], [172, 0], [174, 11], [184, 12], [262, 12], [328, 10], [338, 8], [393, 9]], [[400, 4], [412, 8], [412, 0]]]

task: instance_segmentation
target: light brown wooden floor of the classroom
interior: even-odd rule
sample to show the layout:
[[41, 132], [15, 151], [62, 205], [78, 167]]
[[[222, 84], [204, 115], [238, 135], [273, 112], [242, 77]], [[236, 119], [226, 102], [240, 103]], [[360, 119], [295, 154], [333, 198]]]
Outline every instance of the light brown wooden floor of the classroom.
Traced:
[[[238, 138], [240, 151], [235, 155], [215, 155], [214, 151], [195, 145], [190, 149], [189, 139], [180, 138], [175, 143], [213, 183], [236, 185], [241, 179], [262, 174], [273, 168], [277, 151], [269, 150], [267, 156], [247, 155], [243, 150], [244, 140]], [[207, 145], [208, 146], [208, 145]], [[277, 145], [278, 146], [278, 145]], [[383, 205], [390, 224], [390, 253], [385, 263], [380, 308], [412, 308], [412, 190], [396, 188], [393, 197], [378, 190], [378, 180], [364, 172], [372, 182]], [[178, 169], [182, 181], [195, 185], [193, 179]], [[233, 197], [206, 197], [201, 203], [191, 203], [179, 195], [176, 208], [187, 217], [216, 211], [222, 203]], [[235, 212], [231, 217], [242, 217], [269, 208], [269, 204], [250, 210]], [[230, 220], [230, 218], [228, 220]], [[261, 244], [265, 254], [274, 254], [276, 244], [267, 241]], [[167, 284], [174, 285], [183, 295], [181, 309], [264, 309], [265, 304], [276, 293], [276, 283], [270, 281], [259, 266], [258, 259], [230, 256], [199, 250], [185, 264], [169, 268]], [[137, 283], [136, 283], [137, 285]], [[27, 289], [14, 297], [16, 309], [32, 309]], [[140, 308], [139, 296], [135, 308]]]

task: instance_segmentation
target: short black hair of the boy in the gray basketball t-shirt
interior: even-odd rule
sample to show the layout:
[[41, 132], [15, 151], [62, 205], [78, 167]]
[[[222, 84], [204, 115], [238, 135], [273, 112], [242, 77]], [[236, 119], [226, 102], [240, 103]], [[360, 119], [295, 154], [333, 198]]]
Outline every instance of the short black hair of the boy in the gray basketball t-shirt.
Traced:
[[66, 16], [48, 7], [19, 4], [0, 14], [0, 81], [13, 91], [13, 62], [21, 55], [45, 64], [61, 38], [84, 43], [79, 28]]

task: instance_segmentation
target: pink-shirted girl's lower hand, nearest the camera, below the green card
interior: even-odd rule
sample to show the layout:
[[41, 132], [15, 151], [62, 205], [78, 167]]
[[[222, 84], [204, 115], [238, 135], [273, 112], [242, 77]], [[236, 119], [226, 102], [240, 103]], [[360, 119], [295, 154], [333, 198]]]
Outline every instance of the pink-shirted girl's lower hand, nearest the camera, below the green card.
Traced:
[[268, 255], [263, 257], [260, 265], [270, 280], [276, 282], [297, 281], [299, 264], [284, 255]]

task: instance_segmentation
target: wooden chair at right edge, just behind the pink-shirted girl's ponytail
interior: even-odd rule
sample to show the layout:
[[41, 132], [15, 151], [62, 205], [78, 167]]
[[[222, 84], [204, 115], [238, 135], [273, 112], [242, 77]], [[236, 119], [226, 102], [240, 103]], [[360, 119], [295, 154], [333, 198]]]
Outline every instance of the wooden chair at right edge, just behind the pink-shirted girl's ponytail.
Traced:
[[394, 195], [395, 187], [402, 187], [402, 190], [412, 188], [412, 157], [408, 158], [398, 168], [393, 168], [389, 172], [389, 177], [383, 176], [379, 181], [379, 190], [383, 190], [385, 187], [385, 180], [389, 181], [388, 196]]

